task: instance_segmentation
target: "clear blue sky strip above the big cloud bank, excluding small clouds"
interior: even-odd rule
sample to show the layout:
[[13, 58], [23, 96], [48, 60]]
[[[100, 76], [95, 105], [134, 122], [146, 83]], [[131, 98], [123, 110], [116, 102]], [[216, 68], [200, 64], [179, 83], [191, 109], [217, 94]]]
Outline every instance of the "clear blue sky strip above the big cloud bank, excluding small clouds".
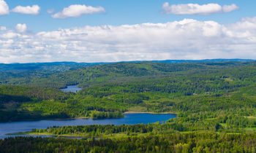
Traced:
[[[184, 0], [6, 0], [10, 9], [21, 5], [31, 6], [37, 4], [40, 7], [39, 15], [23, 15], [10, 12], [10, 15], [0, 16], [0, 25], [7, 27], [15, 27], [18, 23], [26, 23], [32, 31], [51, 31], [58, 28], [70, 28], [78, 26], [98, 26], [98, 25], [123, 25], [123, 24], [139, 24], [139, 23], [167, 23], [174, 20], [183, 20], [184, 18], [192, 18], [195, 20], [214, 20], [218, 23], [234, 23], [242, 17], [254, 17], [256, 15], [254, 0], [236, 0], [236, 1], [184, 1]], [[163, 15], [162, 4], [169, 2], [170, 4], [208, 4], [216, 3], [236, 4], [239, 9], [229, 13], [215, 13], [213, 15]], [[47, 13], [48, 9], [54, 9], [55, 12], [61, 11], [64, 7], [71, 4], [86, 4], [87, 6], [104, 7], [106, 12], [97, 15], [82, 15], [80, 17], [69, 17], [66, 19], [53, 19]]]

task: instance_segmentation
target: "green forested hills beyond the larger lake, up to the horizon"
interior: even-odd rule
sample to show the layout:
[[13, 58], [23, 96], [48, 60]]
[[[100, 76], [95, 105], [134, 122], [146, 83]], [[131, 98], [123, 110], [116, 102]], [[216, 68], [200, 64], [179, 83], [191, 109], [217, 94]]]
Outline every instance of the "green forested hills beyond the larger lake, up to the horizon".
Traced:
[[[124, 111], [173, 112], [182, 117], [177, 122], [230, 114], [248, 119], [256, 117], [255, 82], [254, 61], [102, 64], [1, 85], [0, 119], [121, 117]], [[58, 89], [67, 85], [83, 90]]]

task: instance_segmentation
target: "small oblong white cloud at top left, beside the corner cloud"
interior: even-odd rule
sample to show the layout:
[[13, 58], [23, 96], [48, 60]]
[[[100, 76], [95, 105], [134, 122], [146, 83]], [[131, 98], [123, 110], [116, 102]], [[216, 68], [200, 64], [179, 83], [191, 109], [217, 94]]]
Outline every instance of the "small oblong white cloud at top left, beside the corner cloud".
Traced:
[[28, 14], [28, 15], [38, 15], [39, 10], [40, 10], [40, 7], [38, 5], [33, 5], [32, 7], [17, 6], [14, 9], [12, 9], [12, 12], [18, 12], [18, 13]]

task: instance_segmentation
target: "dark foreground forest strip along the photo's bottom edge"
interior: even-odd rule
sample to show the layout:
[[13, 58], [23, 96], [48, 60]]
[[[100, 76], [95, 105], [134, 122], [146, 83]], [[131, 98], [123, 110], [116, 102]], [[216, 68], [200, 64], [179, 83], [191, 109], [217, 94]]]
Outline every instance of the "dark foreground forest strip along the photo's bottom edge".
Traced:
[[99, 140], [16, 137], [1, 152], [255, 152], [255, 134], [173, 133]]

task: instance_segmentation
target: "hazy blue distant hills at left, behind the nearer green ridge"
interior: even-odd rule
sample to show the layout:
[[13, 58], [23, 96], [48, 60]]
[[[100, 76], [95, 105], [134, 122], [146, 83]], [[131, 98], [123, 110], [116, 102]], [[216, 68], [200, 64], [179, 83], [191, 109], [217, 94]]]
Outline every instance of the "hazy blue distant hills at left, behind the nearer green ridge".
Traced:
[[0, 85], [27, 83], [35, 77], [49, 76], [63, 71], [95, 66], [101, 63], [0, 63]]

